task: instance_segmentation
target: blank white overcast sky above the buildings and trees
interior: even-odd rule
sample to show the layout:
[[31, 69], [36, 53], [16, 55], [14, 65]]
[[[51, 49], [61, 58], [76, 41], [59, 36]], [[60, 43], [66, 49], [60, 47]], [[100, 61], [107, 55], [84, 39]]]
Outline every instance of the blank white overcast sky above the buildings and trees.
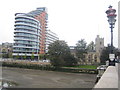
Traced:
[[[104, 38], [107, 46], [111, 41], [110, 26], [106, 10], [109, 5], [118, 10], [119, 0], [1, 0], [0, 1], [0, 44], [13, 43], [15, 13], [28, 13], [38, 7], [46, 7], [48, 29], [60, 40], [74, 46], [78, 40], [87, 44], [95, 42], [97, 35]], [[116, 14], [118, 11], [116, 12]], [[117, 17], [116, 17], [117, 19]], [[114, 46], [118, 47], [118, 22], [113, 29]]]

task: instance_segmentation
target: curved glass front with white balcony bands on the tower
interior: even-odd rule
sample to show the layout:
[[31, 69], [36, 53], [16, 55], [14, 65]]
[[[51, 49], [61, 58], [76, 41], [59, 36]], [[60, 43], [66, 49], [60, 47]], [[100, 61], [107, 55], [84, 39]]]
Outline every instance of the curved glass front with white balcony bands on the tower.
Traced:
[[37, 55], [40, 40], [40, 23], [27, 14], [16, 14], [13, 55]]

